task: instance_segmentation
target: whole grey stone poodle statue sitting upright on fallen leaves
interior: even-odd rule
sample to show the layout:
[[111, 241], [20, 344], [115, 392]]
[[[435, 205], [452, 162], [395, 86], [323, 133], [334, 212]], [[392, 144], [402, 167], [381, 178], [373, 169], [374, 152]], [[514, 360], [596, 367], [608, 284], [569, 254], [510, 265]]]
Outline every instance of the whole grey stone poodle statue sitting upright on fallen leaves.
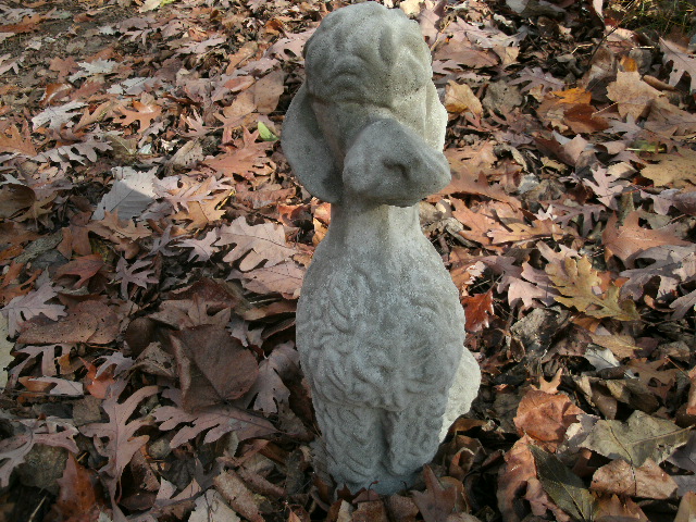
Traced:
[[352, 492], [413, 483], [481, 381], [464, 312], [419, 223], [445, 187], [447, 114], [419, 26], [376, 2], [324, 18], [283, 150], [332, 204], [304, 278], [297, 345], [322, 439], [314, 465]]

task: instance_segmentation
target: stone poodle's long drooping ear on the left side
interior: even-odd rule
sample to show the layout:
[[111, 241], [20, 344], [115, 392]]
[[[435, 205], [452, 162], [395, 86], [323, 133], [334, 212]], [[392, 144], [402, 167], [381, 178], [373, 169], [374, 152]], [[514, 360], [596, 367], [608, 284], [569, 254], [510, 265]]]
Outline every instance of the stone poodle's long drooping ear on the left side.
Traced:
[[281, 144], [295, 175], [312, 196], [330, 203], [340, 201], [340, 171], [316, 123], [307, 84], [287, 110]]

